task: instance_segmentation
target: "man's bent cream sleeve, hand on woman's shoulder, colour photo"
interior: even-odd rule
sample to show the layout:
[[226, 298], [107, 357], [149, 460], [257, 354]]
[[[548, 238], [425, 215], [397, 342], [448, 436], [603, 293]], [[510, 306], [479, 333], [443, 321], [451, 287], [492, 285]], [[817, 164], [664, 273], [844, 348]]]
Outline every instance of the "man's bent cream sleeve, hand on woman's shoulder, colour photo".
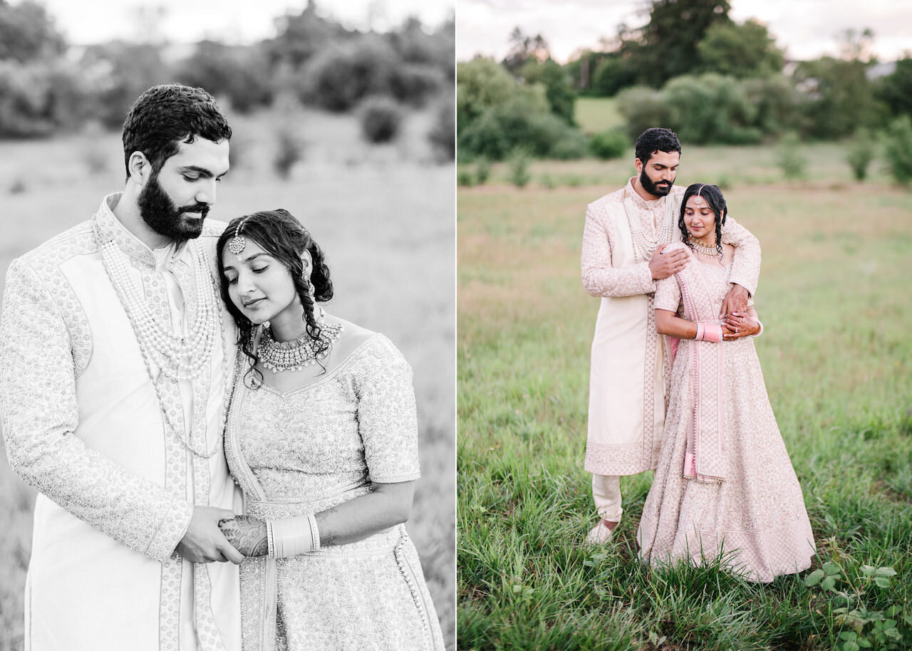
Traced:
[[611, 266], [611, 242], [614, 229], [607, 219], [604, 207], [590, 204], [586, 210], [586, 227], [583, 231], [583, 286], [593, 296], [637, 296], [656, 290], [648, 263]]

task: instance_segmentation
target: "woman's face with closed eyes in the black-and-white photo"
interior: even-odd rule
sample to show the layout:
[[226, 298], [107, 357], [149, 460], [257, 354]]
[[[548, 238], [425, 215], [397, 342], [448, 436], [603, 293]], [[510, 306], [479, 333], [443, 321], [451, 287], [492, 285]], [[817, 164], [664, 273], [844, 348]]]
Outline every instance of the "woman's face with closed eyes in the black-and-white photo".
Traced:
[[241, 253], [231, 253], [227, 244], [222, 253], [228, 295], [255, 325], [271, 321], [286, 310], [303, 309], [288, 267], [249, 237]]

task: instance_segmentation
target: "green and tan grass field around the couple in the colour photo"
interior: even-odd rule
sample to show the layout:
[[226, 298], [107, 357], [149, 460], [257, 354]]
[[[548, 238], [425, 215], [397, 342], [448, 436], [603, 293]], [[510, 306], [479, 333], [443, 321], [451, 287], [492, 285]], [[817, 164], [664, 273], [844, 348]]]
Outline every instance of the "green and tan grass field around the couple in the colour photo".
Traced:
[[912, 646], [912, 193], [849, 181], [837, 145], [806, 153], [814, 181], [790, 184], [771, 149], [687, 147], [678, 182], [724, 178], [762, 243], [758, 353], [814, 569], [832, 580], [649, 571], [635, 536], [651, 473], [622, 480], [616, 542], [581, 544], [596, 522], [583, 458], [598, 300], [580, 239], [586, 204], [627, 181], [633, 155], [538, 162], [523, 190], [495, 166], [458, 191], [459, 648]]

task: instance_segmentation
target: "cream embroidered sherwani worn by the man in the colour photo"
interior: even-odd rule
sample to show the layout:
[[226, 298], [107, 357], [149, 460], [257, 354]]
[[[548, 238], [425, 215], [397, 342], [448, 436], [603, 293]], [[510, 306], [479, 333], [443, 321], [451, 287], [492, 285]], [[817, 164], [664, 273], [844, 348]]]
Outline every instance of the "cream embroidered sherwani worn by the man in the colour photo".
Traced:
[[[644, 251], [636, 235], [655, 243], [665, 233], [679, 242], [685, 189], [672, 187], [646, 202], [633, 181], [589, 204], [583, 233], [583, 285], [602, 299], [592, 342], [585, 466], [596, 475], [655, 469], [665, 424], [669, 362], [653, 314], [656, 281], [648, 263], [654, 249]], [[753, 294], [760, 244], [731, 217], [722, 241], [737, 247], [729, 281]]]

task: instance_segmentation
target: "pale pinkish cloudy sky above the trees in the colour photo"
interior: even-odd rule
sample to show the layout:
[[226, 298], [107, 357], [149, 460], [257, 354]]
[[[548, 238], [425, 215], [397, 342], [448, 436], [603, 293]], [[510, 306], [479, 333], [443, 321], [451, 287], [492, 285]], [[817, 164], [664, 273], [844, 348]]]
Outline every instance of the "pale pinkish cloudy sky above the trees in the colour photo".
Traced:
[[[790, 59], [839, 54], [838, 35], [852, 28], [874, 31], [880, 61], [912, 53], [912, 3], [907, 0], [730, 0], [736, 22], [757, 18]], [[561, 63], [579, 47], [596, 48], [617, 26], [648, 23], [649, 0], [456, 0], [456, 57], [476, 54], [500, 60], [513, 27], [541, 34]], [[643, 11], [643, 8], [646, 10]]]

